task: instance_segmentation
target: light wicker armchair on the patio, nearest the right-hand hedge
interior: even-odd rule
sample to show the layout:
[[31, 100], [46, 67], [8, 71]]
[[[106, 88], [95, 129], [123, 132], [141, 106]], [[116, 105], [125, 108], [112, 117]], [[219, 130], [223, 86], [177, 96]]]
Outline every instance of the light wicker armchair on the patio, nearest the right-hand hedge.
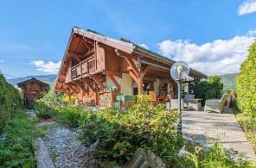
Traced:
[[221, 99], [206, 100], [204, 105], [204, 111], [214, 111], [217, 113], [222, 112], [224, 104], [227, 101], [227, 95], [224, 94]]

